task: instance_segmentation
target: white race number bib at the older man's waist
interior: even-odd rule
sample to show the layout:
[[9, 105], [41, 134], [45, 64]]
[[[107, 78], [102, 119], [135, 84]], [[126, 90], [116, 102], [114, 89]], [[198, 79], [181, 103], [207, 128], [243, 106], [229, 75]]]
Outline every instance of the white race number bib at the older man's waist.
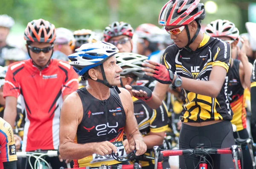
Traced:
[[[118, 157], [125, 157], [126, 156], [126, 152], [125, 152], [125, 147], [122, 143], [122, 141], [118, 141], [114, 144], [117, 147], [117, 156]], [[96, 163], [96, 162], [102, 162], [102, 161], [113, 161], [115, 160], [112, 157], [112, 154], [109, 155], [98, 155], [98, 154], [93, 154], [93, 160], [90, 163]]]

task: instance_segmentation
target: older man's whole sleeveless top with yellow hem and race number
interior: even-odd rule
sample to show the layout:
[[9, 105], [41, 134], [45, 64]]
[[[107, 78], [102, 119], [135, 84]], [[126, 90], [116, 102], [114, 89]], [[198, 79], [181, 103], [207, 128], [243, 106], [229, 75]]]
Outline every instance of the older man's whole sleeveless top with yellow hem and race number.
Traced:
[[[126, 124], [126, 115], [119, 94], [116, 89], [110, 88], [110, 97], [98, 100], [86, 88], [77, 90], [83, 105], [83, 118], [78, 126], [75, 142], [78, 144], [116, 140], [115, 146], [119, 155], [126, 155], [123, 146], [123, 132]], [[99, 143], [100, 144], [100, 143]], [[120, 163], [111, 155], [89, 155], [74, 160], [74, 167], [101, 166], [102, 163], [113, 165]]]

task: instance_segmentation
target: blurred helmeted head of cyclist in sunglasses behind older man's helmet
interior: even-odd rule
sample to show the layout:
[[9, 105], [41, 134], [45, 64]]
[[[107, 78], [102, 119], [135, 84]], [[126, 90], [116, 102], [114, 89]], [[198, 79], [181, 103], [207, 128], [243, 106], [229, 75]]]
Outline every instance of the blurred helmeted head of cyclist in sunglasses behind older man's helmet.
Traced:
[[105, 42], [109, 42], [118, 48], [119, 52], [132, 51], [132, 37], [134, 29], [129, 23], [113, 22], [108, 25], [103, 31]]

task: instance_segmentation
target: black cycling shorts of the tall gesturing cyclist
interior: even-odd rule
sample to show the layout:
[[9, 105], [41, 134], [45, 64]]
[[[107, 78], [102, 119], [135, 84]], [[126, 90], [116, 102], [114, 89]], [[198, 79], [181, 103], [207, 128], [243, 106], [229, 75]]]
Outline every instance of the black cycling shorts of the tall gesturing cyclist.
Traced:
[[[198, 144], [214, 148], [228, 148], [235, 144], [230, 121], [221, 121], [203, 127], [189, 126], [182, 123], [180, 130], [180, 149], [194, 149]], [[211, 155], [214, 169], [234, 169], [232, 155]], [[183, 155], [179, 157], [180, 169], [195, 169], [200, 157]], [[212, 163], [209, 157], [207, 160]], [[208, 164], [209, 166], [209, 164]], [[197, 167], [199, 168], [199, 166]]]

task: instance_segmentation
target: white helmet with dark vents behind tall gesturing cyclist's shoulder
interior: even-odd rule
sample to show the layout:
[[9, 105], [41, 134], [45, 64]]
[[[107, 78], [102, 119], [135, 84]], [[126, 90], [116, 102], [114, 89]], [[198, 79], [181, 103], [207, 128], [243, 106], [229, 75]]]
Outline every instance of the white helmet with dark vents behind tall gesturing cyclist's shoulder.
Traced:
[[230, 37], [236, 40], [239, 37], [239, 30], [235, 24], [228, 20], [215, 20], [205, 27], [205, 33], [211, 37]]

